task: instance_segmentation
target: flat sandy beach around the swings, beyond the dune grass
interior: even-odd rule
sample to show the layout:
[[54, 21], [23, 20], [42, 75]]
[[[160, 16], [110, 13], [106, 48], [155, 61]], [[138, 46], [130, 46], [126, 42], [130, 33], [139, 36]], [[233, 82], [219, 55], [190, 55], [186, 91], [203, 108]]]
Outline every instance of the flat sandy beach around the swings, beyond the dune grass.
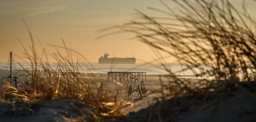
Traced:
[[[4, 71], [4, 70], [3, 70]], [[32, 73], [32, 70], [19, 70], [19, 73], [21, 74], [20, 77], [22, 77], [24, 79], [25, 82], [31, 83], [31, 76], [28, 74]], [[69, 72], [63, 72], [63, 73], [59, 73], [58, 71], [52, 71], [52, 74], [58, 74], [58, 75], [70, 75]], [[43, 70], [38, 70], [38, 75], [43, 78], [46, 77], [47, 75], [45, 75], [45, 71]], [[103, 84], [105, 84], [105, 89], [106, 90], [110, 90], [113, 91], [114, 93], [118, 94], [117, 100], [119, 100], [119, 102], [122, 102], [122, 100], [126, 100], [126, 102], [132, 101], [133, 102], [133, 107], [132, 109], [130, 109], [129, 111], [132, 112], [137, 112], [138, 110], [142, 109], [142, 108], [146, 108], [149, 105], [154, 104], [157, 99], [161, 98], [162, 93], [161, 93], [161, 87], [165, 86], [165, 87], [169, 87], [169, 85], [171, 84], [171, 82], [173, 81], [170, 76], [168, 75], [146, 75], [146, 81], [145, 79], [144, 84], [146, 87], [144, 87], [144, 85], [142, 86], [144, 89], [148, 89], [147, 94], [143, 95], [143, 99], [144, 100], [140, 100], [140, 95], [138, 92], [134, 92], [133, 93], [133, 97], [132, 99], [127, 97], [127, 90], [129, 85], [131, 84], [131, 81], [129, 81], [129, 85], [128, 81], [114, 81], [111, 79], [111, 76], [109, 76], [109, 80], [108, 80], [108, 74], [106, 73], [76, 73], [75, 75], [78, 76], [86, 76], [88, 79], [92, 80], [92, 82], [94, 82], [95, 87], [97, 87], [97, 83], [102, 80]], [[144, 76], [145, 77], [145, 76]], [[189, 81], [191, 82], [196, 82], [198, 79], [195, 78], [183, 78], [184, 80], [189, 79]], [[142, 81], [142, 79], [141, 79]], [[160, 82], [161, 81], [161, 82]], [[9, 82], [9, 81], [8, 81]], [[25, 83], [24, 82], [24, 83]], [[116, 82], [119, 82], [120, 84], [117, 84]], [[136, 81], [137, 83], [139, 83], [138, 81]], [[133, 83], [134, 79], [133, 79]], [[134, 85], [133, 89], [136, 89], [137, 86]], [[118, 91], [118, 92], [117, 92]], [[164, 88], [164, 92], [169, 92], [169, 89]], [[111, 92], [112, 93], [112, 92]]]

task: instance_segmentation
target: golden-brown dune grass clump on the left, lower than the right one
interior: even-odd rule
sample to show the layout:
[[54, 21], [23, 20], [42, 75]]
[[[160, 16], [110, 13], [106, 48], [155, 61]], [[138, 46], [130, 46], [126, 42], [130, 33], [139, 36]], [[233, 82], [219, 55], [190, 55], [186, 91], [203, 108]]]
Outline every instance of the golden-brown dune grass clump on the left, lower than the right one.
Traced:
[[[24, 24], [26, 25], [25, 22]], [[39, 41], [42, 48], [42, 53], [39, 54], [29, 29], [28, 32], [32, 46], [29, 47], [29, 50], [22, 46], [25, 58], [30, 61], [27, 64], [32, 68], [32, 70], [25, 68], [26, 75], [31, 76], [31, 80], [17, 88], [8, 83], [1, 86], [0, 101], [42, 102], [72, 99], [86, 102], [95, 108], [95, 111], [91, 113], [96, 120], [104, 117], [111, 119], [111, 117], [121, 116], [128, 112], [128, 107], [131, 104], [125, 103], [127, 97], [122, 98], [121, 102], [117, 100], [120, 89], [115, 89], [115, 91], [109, 89], [97, 73], [95, 73], [96, 76], [89, 76], [88, 73], [79, 71], [82, 67], [94, 68], [83, 55], [67, 48], [63, 39], [64, 46], [50, 45], [56, 48], [56, 53], [50, 54], [50, 56], [55, 59], [57, 66], [52, 67], [49, 64], [46, 49]], [[66, 54], [58, 51], [57, 48], [65, 49]], [[74, 58], [77, 58], [77, 60], [74, 61]], [[92, 77], [94, 78], [92, 79]], [[123, 106], [123, 104], [125, 105]], [[121, 109], [121, 107], [124, 109]]]

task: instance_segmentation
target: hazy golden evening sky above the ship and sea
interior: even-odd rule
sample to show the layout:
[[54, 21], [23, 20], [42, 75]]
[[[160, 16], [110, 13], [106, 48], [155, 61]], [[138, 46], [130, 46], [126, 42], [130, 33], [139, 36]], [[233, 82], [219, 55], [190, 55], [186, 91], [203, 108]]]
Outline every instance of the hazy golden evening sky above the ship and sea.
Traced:
[[[241, 1], [231, 0], [237, 6], [241, 6]], [[251, 15], [255, 16], [256, 2], [247, 2]], [[174, 7], [170, 2], [167, 3]], [[156, 59], [154, 53], [146, 44], [130, 39], [134, 37], [131, 33], [94, 40], [103, 35], [97, 31], [136, 18], [133, 8], [153, 16], [159, 14], [147, 7], [166, 9], [158, 0], [0, 0], [0, 62], [8, 60], [9, 52], [24, 59], [24, 49], [18, 39], [29, 50], [31, 39], [22, 20], [31, 31], [39, 52], [39, 41], [51, 54], [58, 48], [47, 44], [63, 46], [63, 38], [67, 47], [78, 51], [91, 62], [97, 62], [105, 52], [110, 57], [134, 55], [137, 61], [151, 61]], [[14, 60], [22, 59], [15, 57]], [[173, 58], [166, 60], [175, 62]], [[50, 58], [50, 61], [55, 60]]]

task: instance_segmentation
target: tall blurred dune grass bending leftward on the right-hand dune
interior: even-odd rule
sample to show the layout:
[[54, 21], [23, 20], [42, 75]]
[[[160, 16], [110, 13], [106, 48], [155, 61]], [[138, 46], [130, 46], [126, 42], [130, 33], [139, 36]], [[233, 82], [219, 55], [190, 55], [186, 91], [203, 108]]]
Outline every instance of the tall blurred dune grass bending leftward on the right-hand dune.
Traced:
[[[148, 9], [165, 16], [152, 17], [135, 9], [140, 20], [103, 29], [99, 32], [114, 32], [97, 39], [129, 32], [152, 47], [156, 56], [162, 58], [163, 68], [172, 75], [169, 77], [171, 88], [162, 84], [165, 90], [171, 89], [167, 96], [220, 91], [223, 87], [228, 89], [255, 81], [256, 21], [250, 16], [245, 2], [242, 4], [243, 12], [239, 12], [229, 0], [171, 0], [176, 5], [175, 10], [159, 1], [165, 10]], [[186, 65], [181, 71], [191, 70], [196, 76], [206, 78], [198, 79], [198, 82], [177, 78], [160, 51]]]

